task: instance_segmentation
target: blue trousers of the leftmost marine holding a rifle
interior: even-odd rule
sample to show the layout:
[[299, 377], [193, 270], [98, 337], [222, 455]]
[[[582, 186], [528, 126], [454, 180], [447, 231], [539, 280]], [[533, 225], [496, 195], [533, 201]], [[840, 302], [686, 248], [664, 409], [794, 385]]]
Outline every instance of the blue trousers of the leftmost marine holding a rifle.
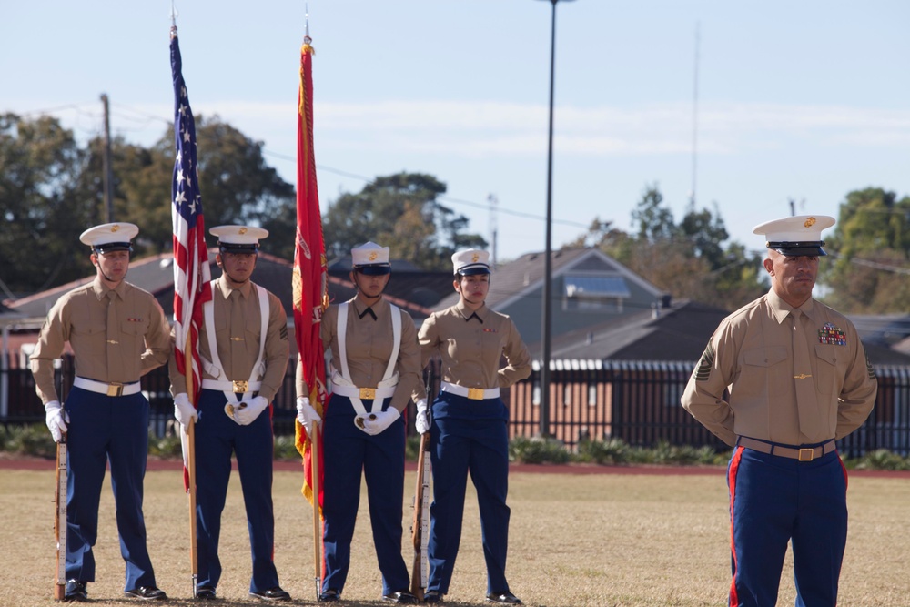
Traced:
[[108, 463], [116, 504], [124, 590], [154, 586], [146, 548], [142, 483], [148, 454], [148, 401], [142, 392], [109, 397], [73, 388], [66, 399], [66, 579], [95, 582], [98, 504]]

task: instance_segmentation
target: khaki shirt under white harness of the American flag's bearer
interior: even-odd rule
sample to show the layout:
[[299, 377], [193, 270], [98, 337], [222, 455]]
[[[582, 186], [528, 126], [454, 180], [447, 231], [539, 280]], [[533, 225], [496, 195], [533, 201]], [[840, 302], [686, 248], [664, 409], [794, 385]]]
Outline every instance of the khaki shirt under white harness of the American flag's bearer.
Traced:
[[[232, 293], [237, 292], [232, 297]], [[253, 365], [259, 356], [259, 337], [262, 327], [262, 316], [259, 310], [259, 297], [253, 283], [247, 281], [240, 288], [231, 288], [227, 278], [221, 275], [212, 285], [212, 305], [215, 306], [215, 344], [218, 358], [224, 365], [224, 372], [230, 381], [249, 379]], [[271, 402], [278, 394], [288, 370], [290, 345], [288, 342], [288, 316], [281, 301], [268, 293], [268, 326], [266, 344], [262, 351], [262, 360], [266, 372], [254, 378], [261, 381], [259, 396]], [[203, 323], [199, 330], [199, 356], [212, 360], [208, 347], [208, 329]], [[171, 393], [175, 396], [187, 391], [187, 379], [183, 369], [177, 369], [177, 360], [171, 356], [168, 365], [171, 379]], [[217, 379], [203, 370], [202, 379]]]

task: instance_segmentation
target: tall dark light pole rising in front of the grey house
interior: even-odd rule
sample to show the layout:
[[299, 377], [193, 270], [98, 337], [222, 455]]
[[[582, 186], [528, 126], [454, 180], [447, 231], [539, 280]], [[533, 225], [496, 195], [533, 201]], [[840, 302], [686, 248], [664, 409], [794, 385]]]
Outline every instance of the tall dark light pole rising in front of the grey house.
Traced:
[[556, 73], [556, 5], [572, 0], [545, 0], [552, 7], [550, 27], [550, 134], [547, 140], [547, 235], [543, 258], [543, 319], [541, 354], [541, 437], [550, 435], [550, 343], [551, 343], [551, 298], [552, 298], [552, 228], [553, 228], [553, 82]]

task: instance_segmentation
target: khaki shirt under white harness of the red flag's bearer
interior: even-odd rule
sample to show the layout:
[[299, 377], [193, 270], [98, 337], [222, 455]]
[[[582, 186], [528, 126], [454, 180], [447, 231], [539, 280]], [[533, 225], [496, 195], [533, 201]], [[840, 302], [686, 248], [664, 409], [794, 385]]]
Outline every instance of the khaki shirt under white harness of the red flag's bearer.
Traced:
[[[376, 388], [382, 380], [392, 355], [392, 309], [389, 302], [379, 299], [368, 308], [356, 296], [348, 301], [347, 337], [345, 348], [348, 354], [350, 380], [358, 388]], [[373, 319], [369, 313], [376, 314]], [[341, 372], [338, 335], [339, 308], [329, 306], [322, 315], [319, 335], [322, 343], [328, 345], [332, 352], [331, 368]], [[399, 374], [399, 383], [395, 388], [389, 406], [403, 411], [408, 406], [411, 393], [423, 390], [423, 378], [420, 366], [420, 348], [417, 345], [417, 329], [410, 314], [401, 310], [401, 343], [395, 371]], [[297, 393], [308, 395], [309, 389], [303, 380], [302, 369], [298, 365]], [[423, 398], [426, 398], [424, 395]]]

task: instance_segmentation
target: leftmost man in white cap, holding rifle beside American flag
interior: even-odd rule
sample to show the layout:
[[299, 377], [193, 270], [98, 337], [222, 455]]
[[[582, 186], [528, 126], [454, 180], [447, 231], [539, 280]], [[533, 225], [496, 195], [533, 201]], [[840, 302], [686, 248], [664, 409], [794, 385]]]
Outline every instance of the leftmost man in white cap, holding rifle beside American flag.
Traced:
[[[139, 228], [110, 223], [79, 238], [92, 248], [96, 277], [59, 298], [31, 357], [35, 389], [45, 403], [54, 440], [66, 432], [66, 595], [88, 600], [95, 582], [98, 502], [110, 463], [117, 532], [126, 561], [127, 597], [166, 599], [155, 584], [142, 516], [148, 451], [148, 401], [139, 378], [167, 362], [167, 320], [154, 297], [126, 282], [130, 240]], [[73, 389], [60, 407], [54, 360], [69, 342], [76, 356]]]

